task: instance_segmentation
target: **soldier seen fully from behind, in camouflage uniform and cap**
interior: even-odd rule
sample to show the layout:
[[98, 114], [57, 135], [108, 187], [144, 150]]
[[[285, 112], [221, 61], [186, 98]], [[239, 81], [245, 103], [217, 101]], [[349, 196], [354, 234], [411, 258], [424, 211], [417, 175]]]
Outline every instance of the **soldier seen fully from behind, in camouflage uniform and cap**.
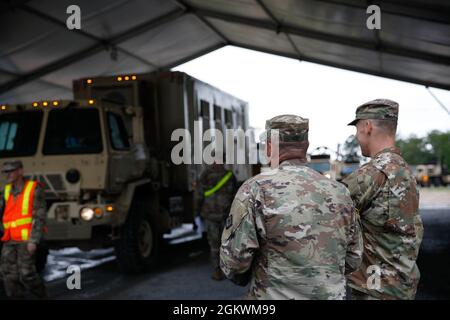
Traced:
[[[358, 268], [362, 237], [349, 191], [306, 166], [309, 122], [266, 122], [267, 155], [279, 167], [247, 180], [222, 234], [220, 265], [247, 299], [345, 299], [345, 274]], [[272, 141], [273, 140], [273, 141]]]

